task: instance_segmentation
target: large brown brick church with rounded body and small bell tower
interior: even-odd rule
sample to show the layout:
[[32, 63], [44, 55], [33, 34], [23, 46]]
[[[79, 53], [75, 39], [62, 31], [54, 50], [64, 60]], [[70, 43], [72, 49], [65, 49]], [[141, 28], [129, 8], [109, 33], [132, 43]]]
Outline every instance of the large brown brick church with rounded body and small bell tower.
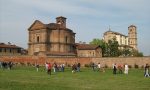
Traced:
[[60, 16], [49, 24], [36, 20], [28, 29], [28, 54], [76, 56], [75, 33], [66, 27], [66, 19]]

